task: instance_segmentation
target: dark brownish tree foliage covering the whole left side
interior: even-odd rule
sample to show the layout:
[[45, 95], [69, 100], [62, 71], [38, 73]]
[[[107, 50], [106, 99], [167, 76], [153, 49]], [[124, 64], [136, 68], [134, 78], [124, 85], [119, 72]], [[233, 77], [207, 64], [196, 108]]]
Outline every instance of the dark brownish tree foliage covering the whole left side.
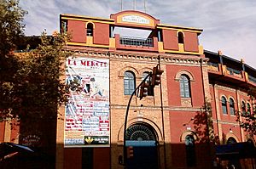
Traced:
[[21, 55], [12, 53], [23, 35], [26, 14], [18, 3], [0, 0], [0, 121], [55, 119], [58, 104], [67, 100], [63, 73], [71, 55], [64, 48], [68, 37], [58, 33], [47, 37], [44, 32], [38, 48]]

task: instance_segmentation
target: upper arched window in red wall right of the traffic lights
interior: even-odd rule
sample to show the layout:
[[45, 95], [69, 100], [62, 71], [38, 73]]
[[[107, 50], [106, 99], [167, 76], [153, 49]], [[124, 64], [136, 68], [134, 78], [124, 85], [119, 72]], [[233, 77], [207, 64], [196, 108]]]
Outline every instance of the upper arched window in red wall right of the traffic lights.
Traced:
[[179, 79], [180, 96], [182, 98], [190, 98], [190, 84], [189, 77], [181, 75]]

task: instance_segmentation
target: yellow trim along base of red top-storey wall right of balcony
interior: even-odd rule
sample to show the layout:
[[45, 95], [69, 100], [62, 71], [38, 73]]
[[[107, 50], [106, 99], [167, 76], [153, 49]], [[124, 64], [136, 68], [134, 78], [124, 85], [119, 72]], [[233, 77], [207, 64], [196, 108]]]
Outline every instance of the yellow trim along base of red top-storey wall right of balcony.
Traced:
[[201, 45], [198, 46], [198, 49], [199, 49], [198, 53], [185, 52], [183, 44], [180, 44], [180, 43], [178, 44], [178, 48], [179, 48], [178, 51], [176, 51], [176, 50], [166, 50], [166, 49], [164, 49], [163, 42], [158, 42], [158, 51], [159, 52], [174, 53], [174, 54], [203, 54], [203, 52], [204, 52], [204, 49]]

